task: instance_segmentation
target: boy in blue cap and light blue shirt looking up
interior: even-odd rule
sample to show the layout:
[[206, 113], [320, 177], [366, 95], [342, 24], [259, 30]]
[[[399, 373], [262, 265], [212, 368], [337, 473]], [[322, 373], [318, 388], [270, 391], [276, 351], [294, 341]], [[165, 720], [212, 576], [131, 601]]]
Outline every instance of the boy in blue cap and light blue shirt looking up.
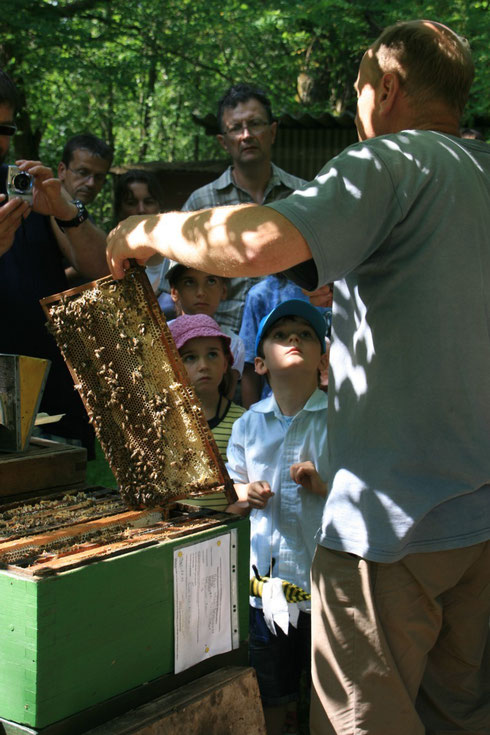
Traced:
[[327, 360], [325, 331], [323, 316], [299, 299], [262, 319], [255, 369], [272, 395], [237, 419], [228, 444], [238, 509], [251, 510], [252, 576], [270, 577], [262, 598], [250, 598], [250, 662], [268, 735], [283, 731], [288, 705], [298, 700], [301, 671], [309, 676], [310, 669], [310, 602], [288, 602], [283, 582], [309, 598], [327, 493], [327, 395], [318, 389]]

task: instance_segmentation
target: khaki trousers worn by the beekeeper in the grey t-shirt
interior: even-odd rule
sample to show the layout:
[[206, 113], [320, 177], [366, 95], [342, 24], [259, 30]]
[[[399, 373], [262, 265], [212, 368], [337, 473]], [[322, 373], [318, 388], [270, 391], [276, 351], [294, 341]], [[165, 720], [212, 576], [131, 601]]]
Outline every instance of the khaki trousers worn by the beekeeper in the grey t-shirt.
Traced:
[[368, 562], [318, 546], [312, 735], [490, 734], [490, 542]]

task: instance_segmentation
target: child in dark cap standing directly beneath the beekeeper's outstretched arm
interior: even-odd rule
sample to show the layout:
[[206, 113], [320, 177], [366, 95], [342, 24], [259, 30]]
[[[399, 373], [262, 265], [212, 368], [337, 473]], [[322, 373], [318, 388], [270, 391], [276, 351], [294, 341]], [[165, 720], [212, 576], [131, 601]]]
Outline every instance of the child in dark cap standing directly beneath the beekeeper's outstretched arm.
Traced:
[[[180, 263], [171, 263], [166, 273], [170, 284], [170, 296], [175, 304], [177, 315], [182, 314], [207, 314], [214, 317], [216, 310], [226, 299], [226, 278], [213, 276], [195, 268], [187, 268]], [[170, 322], [169, 322], [170, 325]], [[242, 377], [245, 361], [245, 346], [240, 337], [231, 329], [220, 325], [221, 331], [231, 340], [231, 353], [233, 355], [232, 376], [227, 397], [232, 399], [238, 381]]]

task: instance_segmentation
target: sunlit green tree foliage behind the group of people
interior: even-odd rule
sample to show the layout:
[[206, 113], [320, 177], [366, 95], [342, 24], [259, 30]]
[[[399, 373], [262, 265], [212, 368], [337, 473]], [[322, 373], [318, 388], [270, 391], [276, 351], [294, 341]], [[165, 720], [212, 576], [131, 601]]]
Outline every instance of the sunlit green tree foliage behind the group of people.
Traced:
[[[466, 122], [488, 115], [488, 0], [2, 0], [0, 63], [24, 99], [16, 155], [56, 167], [91, 131], [115, 163], [215, 158], [192, 123], [232, 83], [276, 113], [354, 110], [363, 51], [386, 25], [426, 17], [466, 35], [477, 67]], [[106, 214], [108, 205], [105, 205]]]

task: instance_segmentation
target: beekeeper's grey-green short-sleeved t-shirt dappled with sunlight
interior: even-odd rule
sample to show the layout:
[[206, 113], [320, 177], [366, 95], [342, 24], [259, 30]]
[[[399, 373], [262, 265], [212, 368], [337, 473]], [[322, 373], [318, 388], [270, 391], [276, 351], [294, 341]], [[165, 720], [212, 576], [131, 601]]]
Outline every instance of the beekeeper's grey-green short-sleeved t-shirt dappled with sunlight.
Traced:
[[374, 561], [490, 536], [490, 147], [403, 131], [268, 205], [336, 281], [319, 542]]

